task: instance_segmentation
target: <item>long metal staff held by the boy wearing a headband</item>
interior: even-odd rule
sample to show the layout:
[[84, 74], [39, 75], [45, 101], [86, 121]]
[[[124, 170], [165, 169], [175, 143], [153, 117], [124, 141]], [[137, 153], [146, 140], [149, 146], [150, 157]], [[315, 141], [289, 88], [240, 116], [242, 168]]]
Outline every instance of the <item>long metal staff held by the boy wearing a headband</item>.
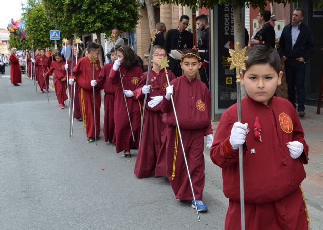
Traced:
[[[166, 80], [167, 80], [167, 84], [169, 86], [170, 85], [170, 81], [168, 79], [168, 73], [167, 73], [167, 69], [166, 69], [166, 67], [169, 66], [168, 65], [168, 62], [169, 62], [169, 60], [167, 60], [167, 57], [161, 57], [161, 60], [160, 60], [159, 65], [160, 65], [161, 68], [164, 68], [164, 70], [165, 70]], [[196, 208], [196, 212], [197, 212], [197, 218], [198, 218], [198, 221], [201, 221], [200, 214], [198, 213], [198, 209], [197, 209], [197, 204], [196, 204], [195, 193], [194, 193], [193, 184], [192, 184], [192, 180], [191, 180], [190, 170], [188, 168], [188, 164], [187, 164], [187, 160], [186, 160], [186, 154], [185, 154], [185, 149], [184, 149], [184, 145], [183, 145], [183, 140], [182, 140], [182, 134], [181, 134], [181, 130], [180, 130], [180, 125], [179, 125], [178, 119], [177, 119], [177, 114], [176, 114], [176, 109], [175, 109], [173, 95], [171, 95], [171, 101], [172, 101], [172, 106], [173, 106], [173, 111], [174, 111], [176, 126], [177, 126], [177, 130], [178, 130], [178, 136], [179, 136], [179, 139], [180, 139], [180, 142], [181, 142], [182, 151], [183, 151], [183, 155], [184, 155], [184, 161], [185, 161], [185, 165], [186, 165], [188, 180], [190, 181], [190, 186], [191, 186], [191, 190], [192, 190], [192, 194], [193, 194], [193, 200], [194, 200], [194, 203], [195, 203], [195, 208]]]

